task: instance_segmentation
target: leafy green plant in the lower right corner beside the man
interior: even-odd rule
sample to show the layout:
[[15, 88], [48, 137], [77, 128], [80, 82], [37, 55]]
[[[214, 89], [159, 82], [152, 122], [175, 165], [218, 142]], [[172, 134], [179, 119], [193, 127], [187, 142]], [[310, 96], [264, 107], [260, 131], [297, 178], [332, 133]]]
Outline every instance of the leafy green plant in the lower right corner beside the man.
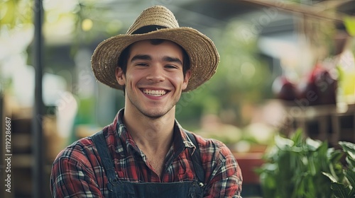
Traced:
[[344, 175], [342, 151], [302, 134], [299, 129], [290, 139], [275, 136], [275, 145], [265, 155], [266, 163], [256, 170], [264, 197], [335, 197], [339, 184], [329, 180], [330, 175], [337, 181], [346, 177], [354, 182], [353, 173], [346, 171], [349, 176]]

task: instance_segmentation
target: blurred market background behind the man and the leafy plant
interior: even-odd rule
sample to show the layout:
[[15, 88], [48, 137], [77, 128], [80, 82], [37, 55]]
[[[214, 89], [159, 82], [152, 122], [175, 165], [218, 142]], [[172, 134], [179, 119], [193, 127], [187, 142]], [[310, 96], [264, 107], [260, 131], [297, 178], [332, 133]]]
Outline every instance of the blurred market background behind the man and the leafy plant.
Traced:
[[252, 168], [276, 134], [355, 141], [355, 1], [1, 0], [0, 154], [9, 117], [13, 156], [11, 193], [1, 185], [0, 197], [50, 197], [59, 151], [112, 122], [124, 95], [96, 81], [92, 53], [157, 4], [219, 50], [217, 74], [182, 94], [176, 117], [231, 148], [244, 197], [261, 196]]

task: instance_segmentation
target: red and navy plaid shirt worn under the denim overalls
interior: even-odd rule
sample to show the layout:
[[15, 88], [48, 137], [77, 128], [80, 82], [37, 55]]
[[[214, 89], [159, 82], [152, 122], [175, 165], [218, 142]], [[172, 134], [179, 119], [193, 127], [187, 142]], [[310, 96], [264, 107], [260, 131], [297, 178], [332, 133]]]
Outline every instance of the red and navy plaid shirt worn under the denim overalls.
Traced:
[[[144, 153], [126, 131], [120, 110], [114, 122], [104, 127], [107, 146], [114, 159], [116, 174], [129, 182], [180, 182], [195, 178], [192, 156], [195, 146], [175, 122], [173, 146], [165, 158], [160, 178]], [[222, 142], [196, 136], [205, 173], [204, 197], [240, 197], [241, 170], [233, 154]], [[107, 175], [92, 139], [75, 141], [58, 154], [50, 176], [53, 197], [107, 197]]]

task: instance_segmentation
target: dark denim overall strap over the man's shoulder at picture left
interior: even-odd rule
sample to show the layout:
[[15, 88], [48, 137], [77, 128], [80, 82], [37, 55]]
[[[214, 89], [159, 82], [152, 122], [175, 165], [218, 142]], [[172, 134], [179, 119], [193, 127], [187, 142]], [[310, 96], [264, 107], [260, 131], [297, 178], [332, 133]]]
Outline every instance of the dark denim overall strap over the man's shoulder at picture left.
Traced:
[[102, 131], [97, 132], [91, 136], [94, 145], [97, 148], [97, 152], [101, 158], [101, 163], [104, 166], [104, 170], [107, 172], [107, 179], [109, 183], [107, 184], [107, 188], [113, 192], [113, 186], [118, 185], [118, 180], [116, 177], [116, 172], [114, 170], [114, 161], [112, 161], [111, 155], [109, 153], [109, 148], [107, 147], [104, 134]]

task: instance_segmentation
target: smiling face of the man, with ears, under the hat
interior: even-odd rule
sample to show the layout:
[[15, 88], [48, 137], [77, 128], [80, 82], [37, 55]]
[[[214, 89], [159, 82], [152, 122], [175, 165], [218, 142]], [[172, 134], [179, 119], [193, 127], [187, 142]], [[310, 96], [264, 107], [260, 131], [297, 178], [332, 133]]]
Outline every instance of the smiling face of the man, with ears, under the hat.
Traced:
[[182, 60], [180, 46], [168, 40], [131, 45], [126, 74], [116, 71], [117, 80], [126, 86], [126, 110], [151, 118], [175, 114], [175, 104], [190, 78], [190, 71], [185, 78], [182, 74]]

